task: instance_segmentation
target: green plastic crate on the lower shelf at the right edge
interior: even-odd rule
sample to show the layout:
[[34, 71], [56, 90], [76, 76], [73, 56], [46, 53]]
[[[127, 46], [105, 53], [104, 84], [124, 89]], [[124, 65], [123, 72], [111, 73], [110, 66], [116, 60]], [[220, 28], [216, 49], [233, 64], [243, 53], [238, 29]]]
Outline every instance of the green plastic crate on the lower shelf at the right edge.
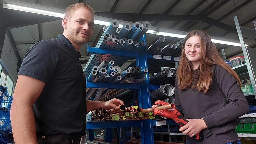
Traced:
[[237, 133], [256, 133], [256, 123], [238, 124], [235, 130]]

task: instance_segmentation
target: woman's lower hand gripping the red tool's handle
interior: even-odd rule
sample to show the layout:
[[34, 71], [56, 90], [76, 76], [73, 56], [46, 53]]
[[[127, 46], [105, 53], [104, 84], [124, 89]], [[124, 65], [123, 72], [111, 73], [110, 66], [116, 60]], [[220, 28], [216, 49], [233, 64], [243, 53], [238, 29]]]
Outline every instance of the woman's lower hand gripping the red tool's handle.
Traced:
[[187, 119], [189, 122], [181, 127], [179, 131], [181, 131], [183, 134], [187, 134], [190, 137], [193, 137], [194, 135], [201, 132], [202, 129], [207, 128], [204, 120], [201, 119]]

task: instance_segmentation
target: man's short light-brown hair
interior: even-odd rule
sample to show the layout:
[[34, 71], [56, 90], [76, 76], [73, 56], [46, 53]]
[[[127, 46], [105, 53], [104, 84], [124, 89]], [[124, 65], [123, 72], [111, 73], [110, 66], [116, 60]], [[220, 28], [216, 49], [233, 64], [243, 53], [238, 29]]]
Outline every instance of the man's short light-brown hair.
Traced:
[[68, 6], [68, 7], [66, 8], [64, 17], [65, 17], [65, 18], [68, 18], [68, 19], [71, 18], [71, 16], [73, 15], [73, 13], [74, 13], [77, 9], [79, 9], [79, 8], [81, 8], [81, 7], [86, 8], [87, 10], [91, 11], [92, 14], [94, 15], [94, 11], [93, 11], [92, 7], [89, 6], [88, 4], [84, 4], [84, 3], [75, 3], [75, 4], [72, 4], [72, 5], [70, 5], [70, 6]]

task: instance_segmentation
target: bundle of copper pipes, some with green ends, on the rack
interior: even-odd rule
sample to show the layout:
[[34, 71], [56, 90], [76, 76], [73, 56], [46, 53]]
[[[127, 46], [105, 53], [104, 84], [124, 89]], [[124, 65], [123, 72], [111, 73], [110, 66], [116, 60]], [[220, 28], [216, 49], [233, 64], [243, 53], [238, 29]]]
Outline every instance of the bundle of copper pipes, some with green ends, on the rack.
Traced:
[[91, 114], [92, 121], [118, 121], [118, 120], [144, 120], [155, 119], [153, 112], [142, 113], [138, 106], [125, 107], [119, 105], [117, 109], [104, 110], [100, 108], [87, 114]]

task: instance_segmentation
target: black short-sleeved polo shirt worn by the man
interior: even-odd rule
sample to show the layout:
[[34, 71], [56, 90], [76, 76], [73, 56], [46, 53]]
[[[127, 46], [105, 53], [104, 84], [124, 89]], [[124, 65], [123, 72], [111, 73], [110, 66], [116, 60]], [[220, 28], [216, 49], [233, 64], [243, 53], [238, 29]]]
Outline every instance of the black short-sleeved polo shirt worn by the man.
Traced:
[[38, 135], [85, 134], [85, 76], [80, 57], [63, 35], [37, 42], [26, 52], [18, 75], [46, 83], [33, 105]]

